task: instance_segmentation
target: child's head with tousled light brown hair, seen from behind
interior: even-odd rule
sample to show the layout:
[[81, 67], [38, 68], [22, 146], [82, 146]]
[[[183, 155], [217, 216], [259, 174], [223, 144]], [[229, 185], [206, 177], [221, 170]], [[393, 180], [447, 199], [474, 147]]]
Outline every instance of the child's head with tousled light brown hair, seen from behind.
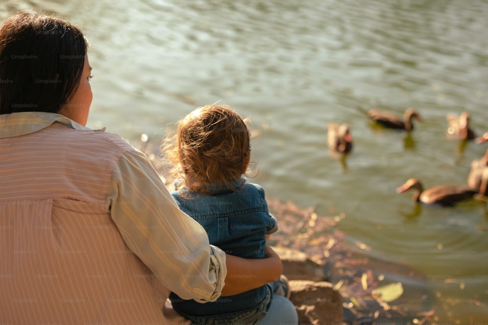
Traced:
[[173, 148], [166, 152], [175, 165], [173, 174], [190, 191], [206, 193], [207, 183], [230, 186], [247, 169], [249, 134], [244, 120], [228, 106], [197, 108], [178, 123]]

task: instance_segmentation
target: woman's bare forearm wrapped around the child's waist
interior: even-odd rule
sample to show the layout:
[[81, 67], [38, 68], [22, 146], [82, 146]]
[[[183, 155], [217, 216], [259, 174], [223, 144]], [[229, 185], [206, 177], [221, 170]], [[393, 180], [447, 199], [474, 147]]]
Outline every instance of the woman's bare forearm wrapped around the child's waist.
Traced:
[[276, 281], [283, 272], [280, 257], [269, 246], [264, 248], [264, 258], [245, 259], [226, 255], [227, 276], [221, 296], [231, 296]]

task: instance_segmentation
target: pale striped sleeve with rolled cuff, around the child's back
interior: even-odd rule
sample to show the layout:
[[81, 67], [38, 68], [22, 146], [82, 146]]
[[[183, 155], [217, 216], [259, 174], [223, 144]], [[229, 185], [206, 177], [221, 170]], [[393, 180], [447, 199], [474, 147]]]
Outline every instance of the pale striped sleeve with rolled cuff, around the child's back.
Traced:
[[209, 245], [203, 227], [178, 208], [143, 153], [119, 159], [105, 204], [127, 246], [164, 287], [202, 303], [220, 297], [224, 251]]

